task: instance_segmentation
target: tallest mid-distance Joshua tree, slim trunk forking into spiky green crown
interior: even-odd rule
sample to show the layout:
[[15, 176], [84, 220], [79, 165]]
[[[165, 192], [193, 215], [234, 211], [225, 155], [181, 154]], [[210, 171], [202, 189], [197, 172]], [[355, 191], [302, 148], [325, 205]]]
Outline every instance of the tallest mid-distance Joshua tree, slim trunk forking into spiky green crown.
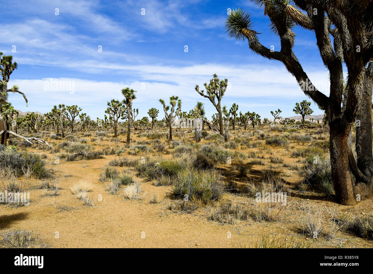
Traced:
[[[222, 101], [224, 93], [228, 87], [228, 79], [220, 80], [216, 74], [213, 74], [213, 79], [210, 79], [209, 85], [207, 85], [207, 83], [204, 83], [203, 85], [206, 88], [207, 95], [204, 94], [204, 90], [200, 91], [200, 86], [198, 85], [195, 86], [195, 90], [199, 95], [208, 98], [216, 108], [217, 112], [219, 113], [220, 134], [224, 135], [223, 115], [220, 102]], [[217, 99], [217, 102], [215, 101], [215, 98]]]

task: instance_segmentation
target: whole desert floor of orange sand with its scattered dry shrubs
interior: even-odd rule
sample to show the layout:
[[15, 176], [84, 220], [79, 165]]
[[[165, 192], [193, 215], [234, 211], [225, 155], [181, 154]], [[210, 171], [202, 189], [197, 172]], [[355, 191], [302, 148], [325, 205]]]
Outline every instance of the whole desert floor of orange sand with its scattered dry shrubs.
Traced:
[[[2, 188], [30, 202], [0, 204], [0, 246], [372, 248], [372, 199], [333, 200], [325, 127], [236, 128], [228, 142], [205, 129], [198, 143], [157, 128], [134, 131], [129, 146], [125, 128], [29, 135], [51, 149], [11, 138], [18, 150], [1, 153], [38, 155], [43, 169], [2, 166]], [[185, 180], [197, 184], [187, 201]], [[257, 203], [262, 190], [287, 201]]]

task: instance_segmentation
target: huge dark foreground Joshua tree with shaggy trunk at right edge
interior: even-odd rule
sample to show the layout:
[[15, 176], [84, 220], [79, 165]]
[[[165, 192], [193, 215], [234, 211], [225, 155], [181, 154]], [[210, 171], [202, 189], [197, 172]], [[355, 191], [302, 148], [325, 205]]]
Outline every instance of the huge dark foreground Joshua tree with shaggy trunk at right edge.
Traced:
[[[260, 44], [253, 30], [250, 14], [232, 11], [226, 21], [230, 37], [248, 39], [249, 47], [270, 60], [282, 62], [297, 79], [305, 95], [325, 110], [329, 123], [330, 164], [336, 198], [345, 205], [356, 197], [373, 193], [373, 155], [371, 102], [373, 88], [372, 1], [257, 0], [271, 21], [272, 31], [280, 39], [280, 50]], [[295, 5], [293, 5], [294, 3]], [[303, 11], [303, 12], [302, 12]], [[329, 97], [310, 81], [293, 47], [295, 25], [314, 33], [317, 47], [329, 70]], [[331, 39], [333, 37], [333, 41]], [[344, 66], [348, 80], [344, 87]], [[357, 161], [352, 153], [351, 127], [356, 130]], [[354, 174], [356, 182], [351, 179]]]

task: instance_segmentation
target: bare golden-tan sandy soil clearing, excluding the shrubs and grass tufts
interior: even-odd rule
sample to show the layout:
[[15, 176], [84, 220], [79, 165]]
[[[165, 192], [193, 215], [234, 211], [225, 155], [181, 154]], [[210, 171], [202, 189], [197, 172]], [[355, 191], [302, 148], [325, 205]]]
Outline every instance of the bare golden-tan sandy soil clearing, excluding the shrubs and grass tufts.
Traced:
[[[122, 140], [125, 137], [120, 136]], [[87, 139], [90, 139], [89, 137]], [[55, 141], [55, 144], [60, 141]], [[89, 142], [90, 143], [90, 142]], [[94, 146], [100, 150], [104, 144]], [[167, 148], [167, 147], [166, 147]], [[44, 196], [43, 189], [36, 189], [40, 180], [20, 178], [25, 189], [30, 192], [30, 205], [23, 207], [0, 206], [0, 234], [8, 230], [29, 230], [40, 236], [44, 243], [57, 248], [227, 248], [247, 246], [256, 241], [263, 231], [269, 231], [281, 238], [292, 235], [300, 237], [297, 227], [300, 216], [306, 208], [321, 210], [325, 226], [333, 217], [344, 212], [353, 212], [355, 216], [372, 216], [372, 200], [362, 201], [356, 206], [340, 206], [313, 192], [293, 194], [287, 206], [282, 210], [278, 222], [255, 222], [252, 219], [235, 225], [209, 221], [209, 206], [200, 207], [193, 213], [181, 213], [167, 209], [172, 202], [167, 194], [171, 187], [156, 187], [151, 182], [137, 178], [144, 190], [142, 200], [125, 200], [123, 187], [116, 195], [106, 191], [106, 184], [99, 182], [99, 174], [104, 166], [118, 156], [105, 156], [105, 159], [81, 160], [51, 165], [57, 154], [42, 150], [28, 149], [35, 153], [47, 154], [48, 167], [53, 167], [62, 188], [57, 196]], [[275, 149], [273, 149], [275, 150]], [[276, 154], [283, 153], [278, 151]], [[285, 162], [294, 163], [296, 159], [287, 152]], [[122, 156], [128, 156], [123, 153]], [[170, 155], [164, 155], [170, 157]], [[130, 156], [138, 158], [138, 156]], [[269, 162], [269, 159], [265, 159]], [[276, 165], [273, 165], [276, 166]], [[282, 166], [282, 165], [278, 165]], [[250, 174], [260, 173], [263, 166], [250, 166]], [[122, 168], [118, 168], [121, 170]], [[135, 174], [135, 173], [133, 173]], [[291, 185], [299, 180], [294, 172], [287, 171], [284, 178]], [[79, 181], [91, 182], [94, 187], [89, 197], [94, 207], [84, 206], [70, 191], [70, 187]], [[150, 204], [152, 194], [159, 196], [159, 203]], [[102, 195], [102, 201], [99, 197]], [[227, 194], [237, 203], [249, 203], [244, 195]], [[255, 207], [251, 204], [252, 207]], [[66, 207], [66, 208], [63, 208]], [[63, 210], [61, 210], [63, 209]], [[58, 233], [58, 237], [57, 237]], [[231, 238], [229, 238], [231, 235]], [[0, 236], [1, 240], [1, 236]], [[373, 241], [339, 232], [335, 239], [319, 238], [313, 240], [314, 247], [366, 247], [372, 248]], [[3, 247], [6, 247], [3, 245]]]

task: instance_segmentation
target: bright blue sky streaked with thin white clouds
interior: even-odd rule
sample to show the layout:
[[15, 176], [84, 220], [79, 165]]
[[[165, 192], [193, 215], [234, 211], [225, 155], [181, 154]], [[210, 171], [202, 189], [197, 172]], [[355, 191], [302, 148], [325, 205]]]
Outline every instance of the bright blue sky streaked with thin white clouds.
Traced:
[[[2, 7], [0, 51], [13, 55], [18, 63], [8, 85], [18, 85], [29, 105], [26, 108], [19, 94], [10, 94], [10, 102], [21, 111], [42, 113], [59, 103], [77, 104], [91, 118], [103, 118], [107, 101], [123, 99], [120, 90], [128, 86], [138, 91], [137, 118], [155, 107], [162, 119], [158, 100], [167, 102], [177, 95], [182, 111], [204, 102], [210, 119], [216, 109], [194, 87], [202, 87], [217, 73], [231, 83], [222, 105], [231, 107], [235, 102], [239, 111], [255, 111], [261, 118], [271, 118], [270, 111], [278, 108], [283, 117], [296, 115], [292, 112], [295, 102], [307, 97], [283, 64], [253, 54], [247, 41], [237, 42], [226, 35], [227, 9], [238, 7], [251, 13], [254, 28], [262, 33], [261, 43], [279, 50], [279, 39], [270, 33], [268, 19], [250, 1], [7, 3]], [[310, 79], [329, 95], [328, 72], [314, 36], [300, 28], [295, 33], [295, 54]], [[73, 92], [46, 88], [50, 79], [73, 81]], [[316, 105], [311, 107], [314, 115], [323, 114]]]

